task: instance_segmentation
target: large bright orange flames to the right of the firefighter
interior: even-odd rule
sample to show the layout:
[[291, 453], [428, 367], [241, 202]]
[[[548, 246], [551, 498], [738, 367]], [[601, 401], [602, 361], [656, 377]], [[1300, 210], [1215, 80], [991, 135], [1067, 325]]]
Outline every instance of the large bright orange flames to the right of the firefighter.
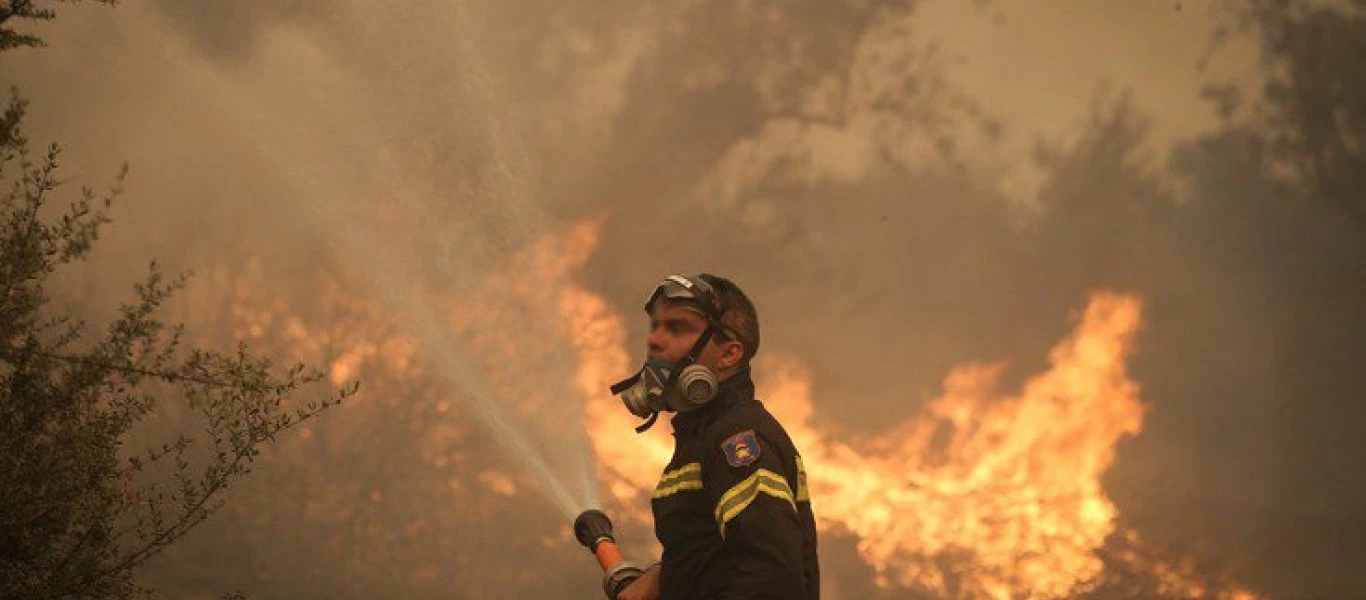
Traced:
[[[1100, 476], [1115, 443], [1142, 428], [1138, 388], [1124, 376], [1138, 320], [1137, 299], [1096, 295], [1053, 349], [1052, 369], [1018, 395], [996, 394], [1000, 365], [959, 368], [928, 414], [867, 444], [876, 454], [811, 429], [803, 385], [768, 398], [800, 424], [822, 523], [855, 533], [884, 582], [1063, 596], [1102, 567], [1094, 549], [1113, 532], [1115, 507]], [[952, 556], [970, 563], [968, 581], [941, 567]]]

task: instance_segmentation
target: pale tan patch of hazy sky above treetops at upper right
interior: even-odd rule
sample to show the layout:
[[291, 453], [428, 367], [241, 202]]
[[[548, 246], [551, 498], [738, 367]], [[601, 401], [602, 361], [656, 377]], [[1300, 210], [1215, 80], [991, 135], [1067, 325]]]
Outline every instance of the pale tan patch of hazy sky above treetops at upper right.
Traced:
[[[1147, 149], [1162, 161], [1171, 144], [1218, 124], [1203, 85], [1257, 83], [1251, 40], [1235, 37], [1210, 52], [1218, 4], [1209, 1], [1012, 0], [984, 8], [934, 0], [921, 7], [915, 29], [941, 45], [948, 79], [1012, 130], [1001, 149], [1008, 164], [1027, 163], [1034, 135], [1074, 139], [1100, 85], [1111, 94], [1127, 90], [1156, 116]], [[1020, 200], [1034, 200], [1037, 176], [1018, 175]]]

